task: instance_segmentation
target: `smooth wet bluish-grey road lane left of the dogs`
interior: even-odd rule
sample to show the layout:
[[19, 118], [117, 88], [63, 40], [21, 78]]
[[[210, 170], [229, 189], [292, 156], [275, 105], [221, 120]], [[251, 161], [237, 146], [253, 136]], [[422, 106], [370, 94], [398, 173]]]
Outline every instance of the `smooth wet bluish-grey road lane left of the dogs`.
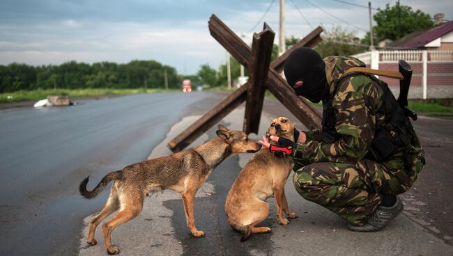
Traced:
[[[206, 93], [130, 95], [79, 106], [0, 111], [0, 255], [75, 255], [79, 182], [146, 159]], [[206, 103], [208, 104], [208, 103]]]

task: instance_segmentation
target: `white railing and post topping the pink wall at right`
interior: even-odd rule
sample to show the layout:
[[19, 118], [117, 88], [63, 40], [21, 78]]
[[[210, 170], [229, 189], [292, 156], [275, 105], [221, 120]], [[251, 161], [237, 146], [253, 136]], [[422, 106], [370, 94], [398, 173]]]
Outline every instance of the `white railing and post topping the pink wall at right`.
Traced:
[[427, 98], [427, 63], [428, 62], [452, 62], [453, 51], [448, 50], [385, 50], [385, 51], [367, 51], [361, 54], [353, 55], [359, 58], [365, 64], [376, 70], [379, 69], [379, 63], [397, 63], [404, 60], [410, 63], [422, 63], [422, 86], [423, 99]]

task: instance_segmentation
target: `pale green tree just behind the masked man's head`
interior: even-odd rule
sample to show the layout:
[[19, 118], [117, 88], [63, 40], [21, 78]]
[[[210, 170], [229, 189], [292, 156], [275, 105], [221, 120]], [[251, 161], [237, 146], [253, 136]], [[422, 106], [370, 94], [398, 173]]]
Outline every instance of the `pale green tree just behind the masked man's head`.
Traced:
[[348, 56], [358, 54], [364, 49], [358, 43], [354, 32], [348, 32], [341, 26], [334, 26], [330, 31], [325, 31], [323, 41], [314, 48], [322, 58], [332, 55]]

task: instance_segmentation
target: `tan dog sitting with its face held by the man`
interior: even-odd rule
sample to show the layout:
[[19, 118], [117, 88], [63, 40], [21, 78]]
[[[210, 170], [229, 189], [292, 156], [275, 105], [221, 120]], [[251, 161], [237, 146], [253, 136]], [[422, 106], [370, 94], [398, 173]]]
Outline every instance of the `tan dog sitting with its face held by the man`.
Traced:
[[[288, 118], [272, 120], [266, 136], [279, 136], [294, 141], [295, 125]], [[277, 205], [277, 219], [282, 225], [288, 224], [283, 217], [284, 211], [289, 218], [297, 214], [289, 211], [284, 193], [284, 184], [294, 163], [291, 157], [275, 157], [267, 148], [256, 153], [240, 171], [231, 186], [225, 202], [225, 213], [231, 227], [244, 236], [245, 241], [252, 233], [270, 232], [269, 227], [255, 227], [269, 215], [266, 199], [274, 196]]]

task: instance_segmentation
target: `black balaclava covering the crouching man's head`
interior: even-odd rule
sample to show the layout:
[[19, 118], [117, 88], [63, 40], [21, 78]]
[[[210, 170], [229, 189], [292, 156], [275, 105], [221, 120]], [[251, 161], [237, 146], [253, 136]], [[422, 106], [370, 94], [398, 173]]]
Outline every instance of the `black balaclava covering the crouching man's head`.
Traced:
[[[329, 93], [324, 67], [324, 61], [314, 49], [300, 47], [286, 58], [284, 74], [296, 95], [318, 103]], [[295, 88], [297, 81], [303, 81], [303, 84]]]

